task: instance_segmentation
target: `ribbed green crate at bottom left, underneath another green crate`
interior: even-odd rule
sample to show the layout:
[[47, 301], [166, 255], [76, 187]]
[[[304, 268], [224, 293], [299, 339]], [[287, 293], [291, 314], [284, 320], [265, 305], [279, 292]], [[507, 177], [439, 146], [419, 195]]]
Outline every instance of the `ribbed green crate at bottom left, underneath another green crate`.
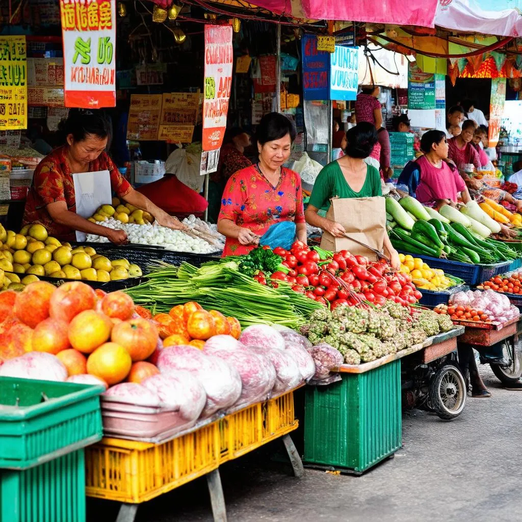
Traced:
[[0, 522], [85, 519], [83, 449], [30, 469], [0, 469]]

